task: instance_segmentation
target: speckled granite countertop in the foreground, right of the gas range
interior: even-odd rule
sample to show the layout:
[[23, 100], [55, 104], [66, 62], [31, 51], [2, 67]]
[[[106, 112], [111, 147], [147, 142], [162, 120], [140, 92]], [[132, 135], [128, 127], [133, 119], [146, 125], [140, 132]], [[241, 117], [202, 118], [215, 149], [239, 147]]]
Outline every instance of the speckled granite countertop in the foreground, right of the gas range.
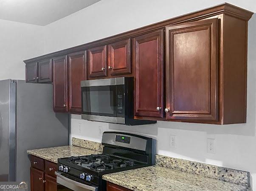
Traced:
[[103, 175], [103, 179], [134, 191], [248, 191], [242, 185], [160, 166]]

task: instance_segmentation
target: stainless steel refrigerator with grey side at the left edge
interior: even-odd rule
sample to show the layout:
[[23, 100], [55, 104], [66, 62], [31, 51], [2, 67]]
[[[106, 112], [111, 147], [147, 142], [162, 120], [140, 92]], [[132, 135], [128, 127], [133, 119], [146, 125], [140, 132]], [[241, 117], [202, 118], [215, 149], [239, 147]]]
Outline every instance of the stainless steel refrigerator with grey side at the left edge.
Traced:
[[27, 150], [68, 145], [68, 114], [53, 112], [52, 84], [0, 81], [0, 182], [30, 185]]

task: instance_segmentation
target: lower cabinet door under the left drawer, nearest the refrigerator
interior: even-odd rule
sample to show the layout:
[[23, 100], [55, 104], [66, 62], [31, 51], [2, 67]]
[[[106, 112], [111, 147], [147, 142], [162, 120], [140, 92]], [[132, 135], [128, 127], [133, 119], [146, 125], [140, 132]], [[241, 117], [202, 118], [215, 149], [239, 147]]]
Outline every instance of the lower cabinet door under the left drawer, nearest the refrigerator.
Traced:
[[44, 191], [44, 172], [30, 168], [31, 191]]

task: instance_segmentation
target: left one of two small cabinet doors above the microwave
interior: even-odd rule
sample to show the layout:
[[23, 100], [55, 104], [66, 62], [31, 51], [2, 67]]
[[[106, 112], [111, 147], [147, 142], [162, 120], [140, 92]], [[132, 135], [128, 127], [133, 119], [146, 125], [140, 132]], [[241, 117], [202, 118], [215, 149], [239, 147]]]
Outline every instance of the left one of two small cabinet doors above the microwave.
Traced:
[[107, 76], [107, 45], [88, 50], [89, 77]]

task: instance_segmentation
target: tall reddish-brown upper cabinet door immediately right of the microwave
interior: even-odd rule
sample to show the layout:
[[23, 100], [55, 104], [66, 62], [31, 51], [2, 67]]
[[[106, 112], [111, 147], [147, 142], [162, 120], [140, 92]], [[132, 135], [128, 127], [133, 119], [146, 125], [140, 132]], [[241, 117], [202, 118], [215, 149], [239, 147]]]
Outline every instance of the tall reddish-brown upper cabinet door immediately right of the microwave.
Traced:
[[163, 30], [133, 39], [135, 118], [163, 117]]

